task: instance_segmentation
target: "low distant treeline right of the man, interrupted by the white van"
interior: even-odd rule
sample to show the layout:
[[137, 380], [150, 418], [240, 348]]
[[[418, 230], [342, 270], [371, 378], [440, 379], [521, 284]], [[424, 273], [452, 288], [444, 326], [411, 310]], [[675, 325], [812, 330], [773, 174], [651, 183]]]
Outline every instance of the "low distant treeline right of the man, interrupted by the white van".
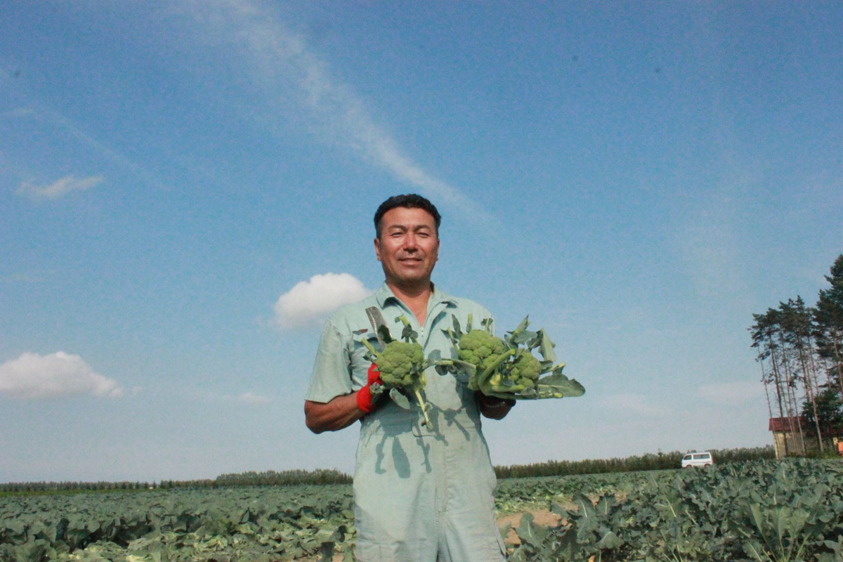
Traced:
[[[776, 458], [776, 449], [744, 447], [739, 449], [710, 449], [715, 463], [736, 463], [762, 458]], [[531, 478], [535, 476], [572, 476], [575, 474], [605, 474], [636, 472], [639, 470], [666, 470], [679, 468], [685, 452], [658, 452], [626, 458], [589, 459], [583, 461], [547, 461], [546, 463], [513, 464], [496, 466], [497, 478]]]

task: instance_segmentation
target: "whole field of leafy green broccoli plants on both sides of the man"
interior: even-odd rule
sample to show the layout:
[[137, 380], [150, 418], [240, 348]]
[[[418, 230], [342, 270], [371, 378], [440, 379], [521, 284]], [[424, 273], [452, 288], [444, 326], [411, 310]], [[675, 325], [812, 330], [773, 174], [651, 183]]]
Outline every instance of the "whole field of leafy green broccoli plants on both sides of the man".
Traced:
[[[839, 461], [501, 479], [496, 505], [513, 561], [843, 559]], [[3, 561], [351, 560], [354, 538], [347, 484], [0, 497]]]

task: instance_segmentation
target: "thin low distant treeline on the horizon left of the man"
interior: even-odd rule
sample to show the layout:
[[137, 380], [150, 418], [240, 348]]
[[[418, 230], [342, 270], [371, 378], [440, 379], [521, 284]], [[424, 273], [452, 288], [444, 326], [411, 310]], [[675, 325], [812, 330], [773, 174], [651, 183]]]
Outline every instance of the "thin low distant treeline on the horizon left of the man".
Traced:
[[228, 486], [298, 486], [302, 484], [351, 484], [352, 477], [339, 470], [283, 470], [221, 474], [215, 479], [161, 480], [160, 482], [11, 482], [0, 492], [75, 492], [110, 490], [169, 490], [172, 488], [224, 488]]

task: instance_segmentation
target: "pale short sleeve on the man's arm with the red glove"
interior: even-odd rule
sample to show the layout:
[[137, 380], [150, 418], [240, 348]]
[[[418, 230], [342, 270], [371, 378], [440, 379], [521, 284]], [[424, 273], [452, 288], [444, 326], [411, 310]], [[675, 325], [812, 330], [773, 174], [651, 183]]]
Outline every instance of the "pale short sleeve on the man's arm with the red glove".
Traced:
[[328, 320], [319, 340], [314, 371], [304, 399], [328, 403], [337, 396], [352, 392], [351, 361], [346, 338]]

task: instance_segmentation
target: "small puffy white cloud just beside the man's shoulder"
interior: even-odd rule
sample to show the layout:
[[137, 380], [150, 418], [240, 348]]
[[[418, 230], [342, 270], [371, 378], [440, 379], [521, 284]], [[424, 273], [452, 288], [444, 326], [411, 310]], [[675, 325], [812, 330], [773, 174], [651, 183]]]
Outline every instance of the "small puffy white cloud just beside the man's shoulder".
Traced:
[[368, 297], [372, 291], [348, 273], [325, 273], [299, 281], [275, 303], [275, 319], [284, 329], [315, 324], [337, 308]]

